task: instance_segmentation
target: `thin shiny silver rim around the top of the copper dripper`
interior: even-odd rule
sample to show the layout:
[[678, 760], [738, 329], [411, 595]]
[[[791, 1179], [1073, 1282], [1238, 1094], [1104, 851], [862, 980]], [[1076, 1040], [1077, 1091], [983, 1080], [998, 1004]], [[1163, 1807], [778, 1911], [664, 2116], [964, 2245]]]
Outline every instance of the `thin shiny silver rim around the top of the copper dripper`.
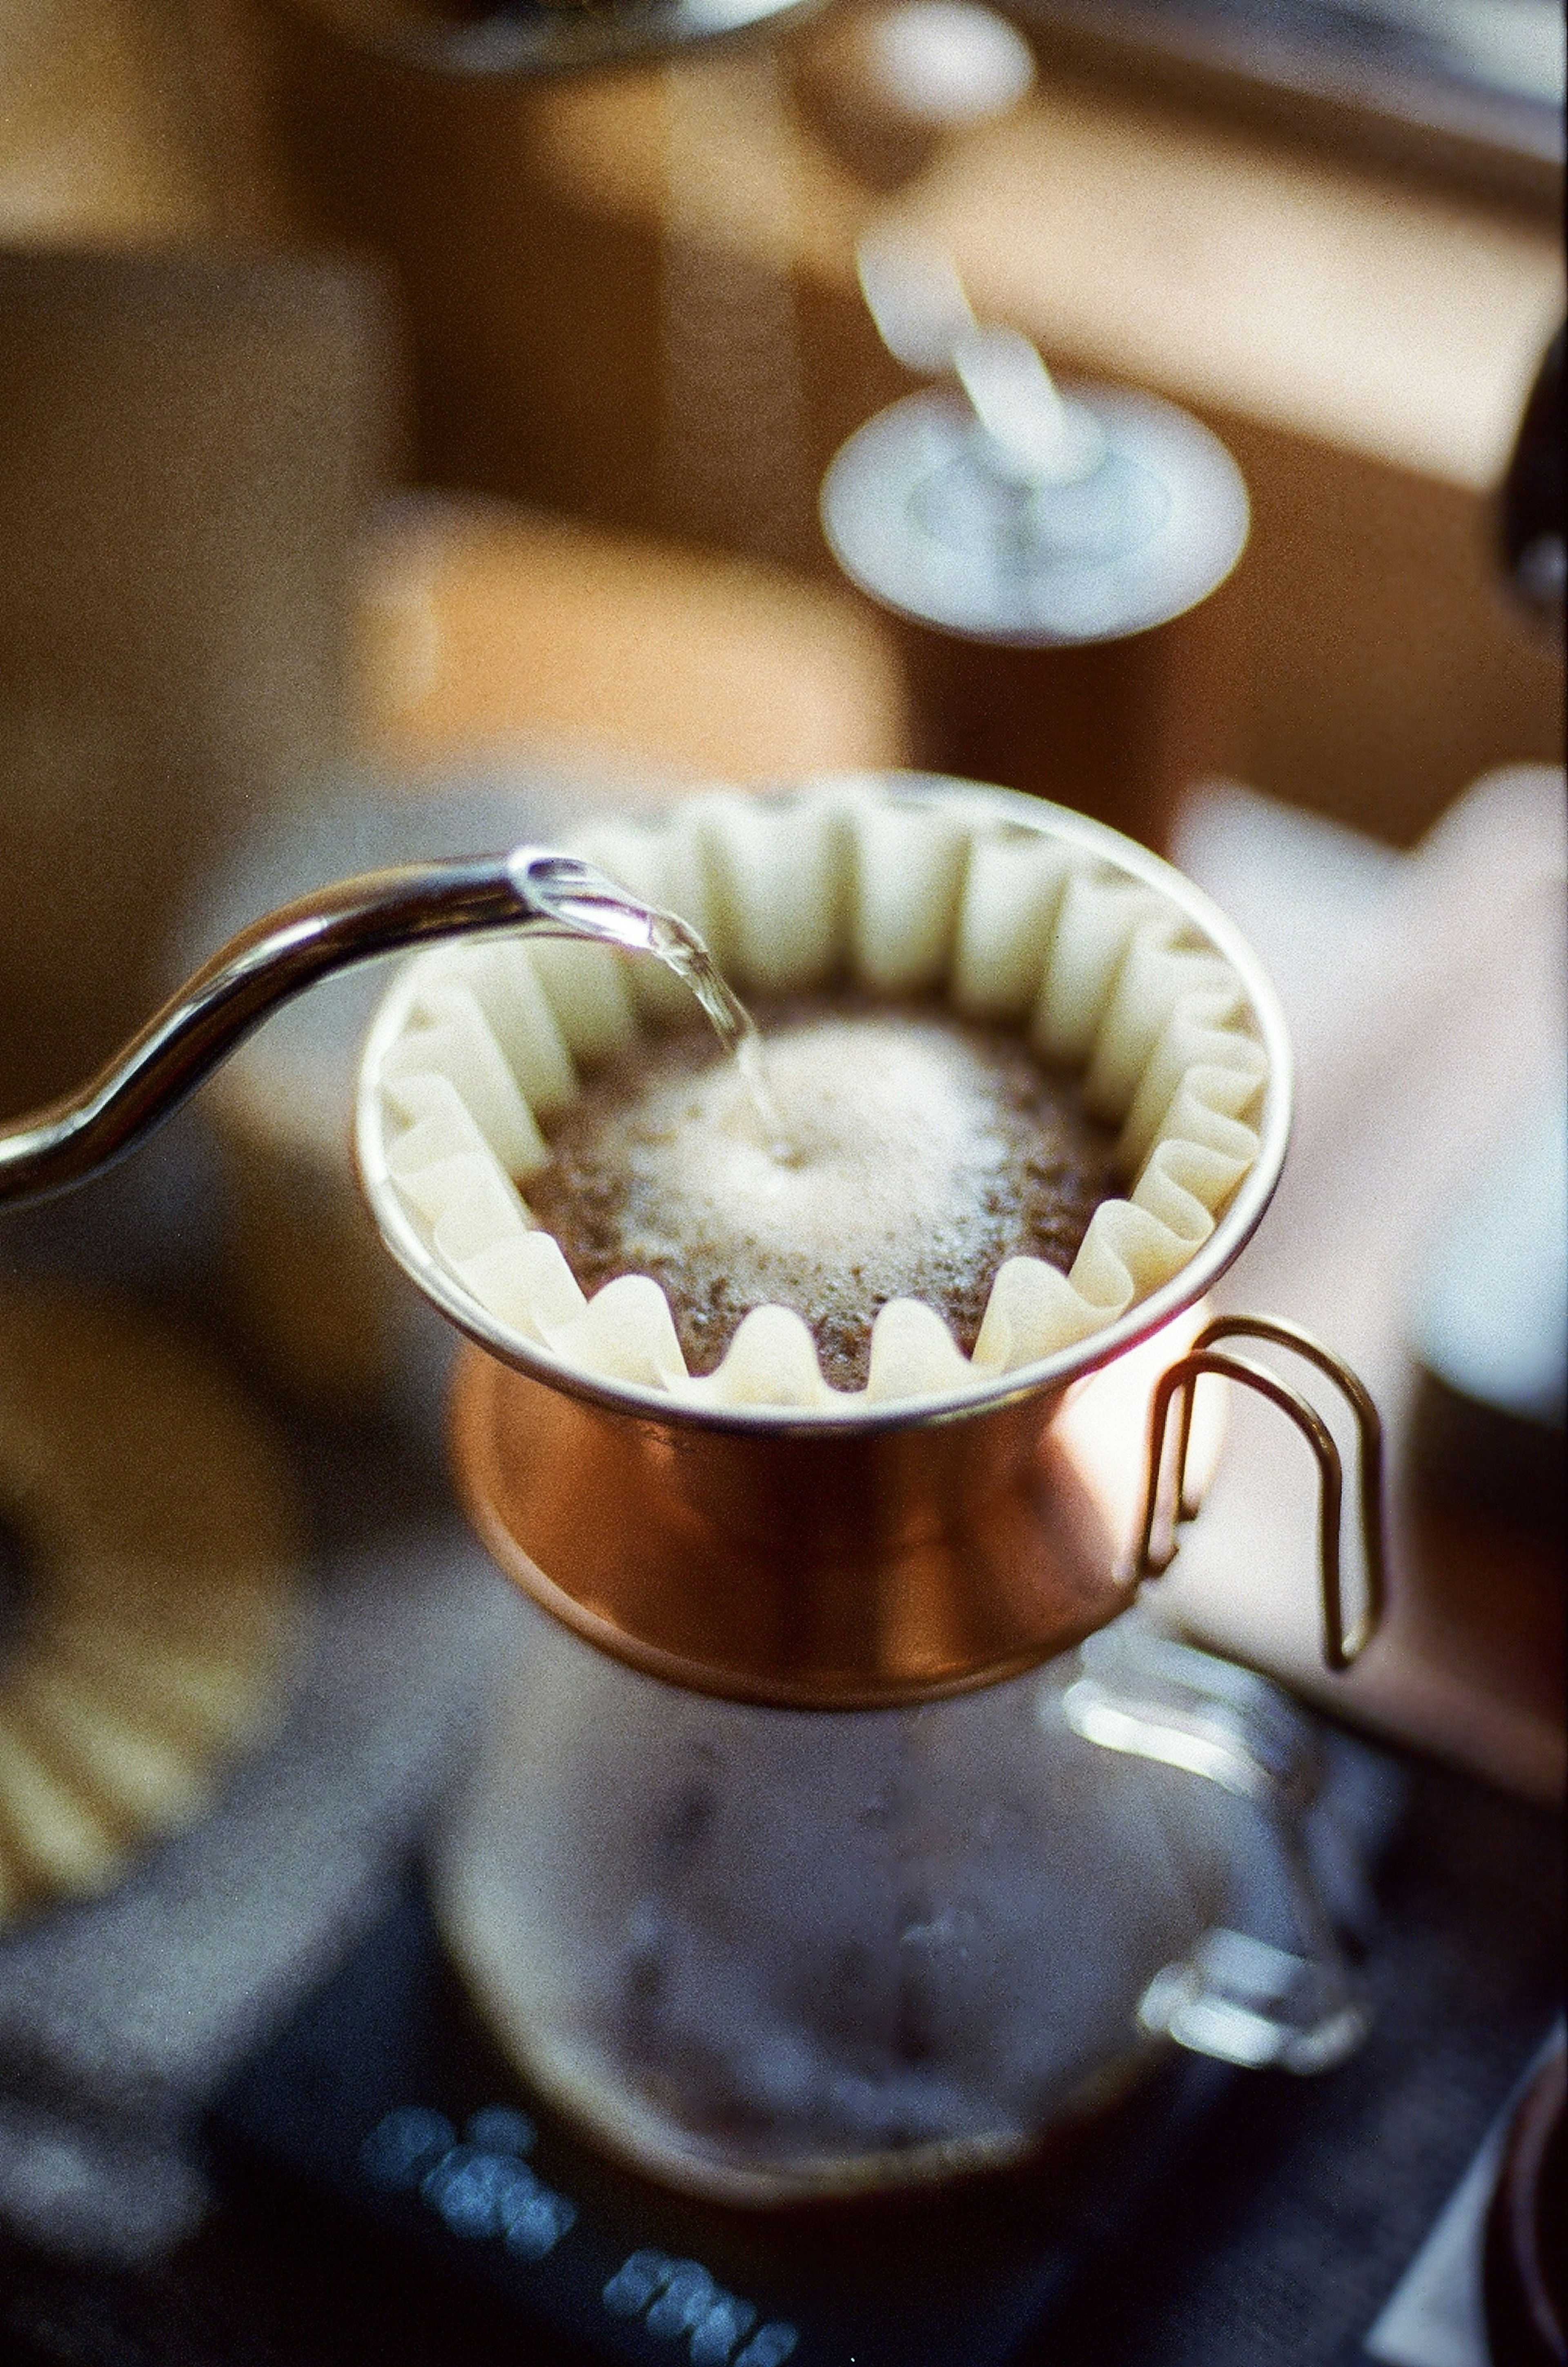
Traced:
[[1126, 838], [1121, 831], [1114, 831], [1102, 821], [1093, 821], [1088, 814], [1076, 814], [1064, 805], [1048, 802], [1045, 798], [1031, 798], [1019, 791], [972, 781], [955, 781], [941, 774], [906, 772], [887, 774], [882, 779], [894, 793], [906, 788], [922, 800], [953, 798], [960, 800], [970, 814], [991, 814], [996, 821], [1007, 821], [1038, 831], [1041, 836], [1064, 840], [1083, 854], [1112, 864], [1138, 885], [1154, 890], [1173, 904], [1204, 937], [1209, 937], [1216, 952], [1230, 961], [1242, 980], [1242, 989], [1258, 1030], [1258, 1041], [1268, 1060], [1268, 1077], [1263, 1086], [1263, 1108], [1256, 1120], [1258, 1155], [1246, 1176], [1242, 1176], [1235, 1198], [1216, 1221], [1209, 1240], [1192, 1252], [1187, 1264], [1180, 1266], [1168, 1283], [1161, 1283], [1149, 1292], [1149, 1297], [1138, 1299], [1123, 1316], [1107, 1323], [1102, 1330], [1090, 1333], [1086, 1340], [1078, 1340], [1052, 1356], [1043, 1356], [1036, 1363], [998, 1373], [993, 1382], [967, 1382], [948, 1397], [932, 1394], [915, 1401], [887, 1399], [875, 1404], [849, 1399], [842, 1406], [811, 1408], [712, 1406], [683, 1401], [643, 1382], [605, 1380], [570, 1368], [546, 1349], [537, 1349], [527, 1340], [504, 1333], [485, 1316], [478, 1302], [447, 1276], [433, 1250], [421, 1240], [393, 1186], [381, 1098], [376, 1089], [383, 1053], [390, 1049], [390, 1041], [402, 1023], [397, 1001], [390, 997], [369, 1030], [359, 1060], [359, 1086], [355, 1098], [355, 1162], [359, 1186], [395, 1262], [416, 1290], [421, 1290], [423, 1297], [456, 1326], [456, 1330], [485, 1349], [485, 1354], [527, 1373], [532, 1380], [542, 1380], [551, 1389], [577, 1397], [584, 1404], [610, 1413], [629, 1413], [643, 1420], [655, 1420], [660, 1427], [669, 1430], [721, 1430], [773, 1439], [835, 1437], [844, 1432], [863, 1437], [870, 1432], [958, 1423], [1000, 1406], [1019, 1404], [1022, 1399], [1041, 1392], [1062, 1392], [1069, 1382], [1081, 1380], [1088, 1373], [1097, 1373], [1130, 1347], [1138, 1347], [1140, 1340], [1147, 1340], [1152, 1333], [1171, 1323], [1173, 1316], [1183, 1314], [1183, 1309], [1204, 1297], [1220, 1273], [1225, 1273], [1239, 1257], [1279, 1184], [1291, 1131], [1294, 1094], [1294, 1060], [1284, 1011], [1268, 970], [1251, 949], [1249, 940], [1183, 871], [1138, 845], [1133, 838]]

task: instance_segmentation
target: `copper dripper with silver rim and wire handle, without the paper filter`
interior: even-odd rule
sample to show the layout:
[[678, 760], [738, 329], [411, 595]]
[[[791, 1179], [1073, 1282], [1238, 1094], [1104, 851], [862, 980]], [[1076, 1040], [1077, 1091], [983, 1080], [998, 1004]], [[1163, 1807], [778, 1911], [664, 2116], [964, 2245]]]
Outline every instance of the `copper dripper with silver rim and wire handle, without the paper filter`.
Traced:
[[[359, 1172], [397, 1262], [475, 1342], [454, 1385], [452, 1451], [480, 1536], [556, 1619], [667, 1683], [785, 1709], [937, 1700], [1081, 1643], [1168, 1562], [1185, 1505], [1178, 1470], [1175, 1508], [1161, 1520], [1166, 1465], [1185, 1468], [1197, 1380], [1218, 1375], [1270, 1397], [1317, 1458], [1324, 1657], [1348, 1666], [1381, 1605], [1376, 1413], [1339, 1359], [1291, 1326], [1227, 1316], [1201, 1328], [1201, 1299], [1263, 1217], [1289, 1136], [1289, 1037], [1268, 978], [1201, 890], [1100, 824], [958, 783], [889, 795], [960, 798], [972, 814], [1069, 840], [1178, 907], [1239, 975], [1268, 1056], [1251, 1172], [1171, 1283], [1038, 1366], [915, 1406], [693, 1406], [572, 1370], [504, 1333], [454, 1285], [388, 1172], [378, 1075], [402, 1025], [395, 989], [362, 1063]], [[1175, 1361], [1159, 1389], [1149, 1368], [1128, 1401], [1116, 1366], [1154, 1335], [1168, 1335]], [[1353, 1621], [1341, 1600], [1334, 1437], [1296, 1389], [1220, 1337], [1296, 1349], [1350, 1399], [1365, 1539]], [[1100, 1373], [1104, 1382], [1090, 1380]], [[1126, 1482], [1140, 1468], [1145, 1415], [1147, 1484], [1133, 1508]]]

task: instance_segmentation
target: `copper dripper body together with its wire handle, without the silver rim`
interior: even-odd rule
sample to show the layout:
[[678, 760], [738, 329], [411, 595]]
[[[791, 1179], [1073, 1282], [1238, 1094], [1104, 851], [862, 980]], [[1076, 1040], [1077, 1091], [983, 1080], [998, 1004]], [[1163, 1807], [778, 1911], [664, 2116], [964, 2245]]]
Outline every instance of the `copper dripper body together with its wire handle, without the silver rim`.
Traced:
[[[1223, 1354], [1227, 1337], [1305, 1356], [1350, 1401], [1365, 1565], [1353, 1621], [1339, 1449], [1277, 1373]], [[991, 1685], [1123, 1612], [1135, 1581], [1173, 1560], [1175, 1522], [1197, 1513], [1192, 1408], [1197, 1380], [1216, 1375], [1268, 1397], [1317, 1456], [1324, 1662], [1348, 1669], [1384, 1607], [1381, 1425], [1360, 1380], [1294, 1323], [1206, 1321], [1201, 1304], [1128, 1359], [1128, 1380], [1133, 1361], [1147, 1366], [1135, 1389], [1112, 1366], [948, 1423], [766, 1434], [660, 1423], [468, 1347], [454, 1468], [501, 1569], [634, 1669], [738, 1702], [877, 1709]], [[1133, 1494], [1145, 1415], [1149, 1460]]]

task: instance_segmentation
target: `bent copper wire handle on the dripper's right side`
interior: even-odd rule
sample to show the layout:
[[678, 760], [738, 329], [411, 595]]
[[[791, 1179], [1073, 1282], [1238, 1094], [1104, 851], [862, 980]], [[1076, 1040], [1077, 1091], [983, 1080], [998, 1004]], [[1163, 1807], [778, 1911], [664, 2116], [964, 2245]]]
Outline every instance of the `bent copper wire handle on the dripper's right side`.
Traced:
[[[1341, 1584], [1346, 1475], [1334, 1434], [1317, 1408], [1310, 1406], [1298, 1389], [1291, 1389], [1291, 1385], [1279, 1380], [1279, 1375], [1265, 1363], [1253, 1363], [1251, 1356], [1223, 1354], [1216, 1347], [1218, 1340], [1268, 1340], [1275, 1347], [1294, 1349], [1294, 1354], [1305, 1356], [1308, 1363], [1315, 1363], [1317, 1370], [1341, 1389], [1355, 1415], [1367, 1598], [1362, 1614], [1350, 1631], [1346, 1631]], [[1296, 1323], [1284, 1323], [1277, 1316], [1216, 1316], [1213, 1323], [1206, 1323], [1197, 1335], [1192, 1349], [1161, 1373], [1159, 1387], [1154, 1389], [1154, 1404], [1149, 1408], [1149, 1482], [1142, 1510], [1142, 1534], [1138, 1541], [1138, 1576], [1154, 1579], [1161, 1569], [1171, 1567], [1178, 1553], [1178, 1524], [1183, 1520], [1192, 1520], [1197, 1513], [1197, 1505], [1187, 1501], [1187, 1449], [1192, 1444], [1192, 1404], [1204, 1373], [1216, 1373], [1220, 1380], [1237, 1380], [1242, 1387], [1268, 1397], [1272, 1406], [1279, 1406], [1279, 1411], [1291, 1418], [1317, 1458], [1322, 1657], [1329, 1669], [1343, 1671], [1360, 1659], [1376, 1633], [1379, 1619], [1384, 1617], [1384, 1425], [1365, 1382], [1355, 1378], [1350, 1366], [1327, 1349], [1322, 1340], [1313, 1340], [1313, 1335], [1301, 1330]], [[1171, 1404], [1178, 1392], [1183, 1399], [1183, 1418], [1175, 1444], [1171, 1543], [1164, 1553], [1159, 1553], [1154, 1548], [1154, 1529], [1164, 1496], [1166, 1430], [1171, 1423]]]

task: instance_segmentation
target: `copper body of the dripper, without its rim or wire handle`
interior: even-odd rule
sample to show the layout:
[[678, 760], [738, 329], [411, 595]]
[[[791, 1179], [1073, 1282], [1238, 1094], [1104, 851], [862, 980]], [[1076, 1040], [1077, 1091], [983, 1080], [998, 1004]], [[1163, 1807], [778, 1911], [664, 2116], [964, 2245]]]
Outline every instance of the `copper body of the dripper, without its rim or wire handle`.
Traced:
[[1114, 1510], [1048, 1427], [1062, 1394], [736, 1434], [466, 1349], [452, 1446], [490, 1553], [589, 1643], [698, 1692], [875, 1709], [991, 1685], [1126, 1610]]

